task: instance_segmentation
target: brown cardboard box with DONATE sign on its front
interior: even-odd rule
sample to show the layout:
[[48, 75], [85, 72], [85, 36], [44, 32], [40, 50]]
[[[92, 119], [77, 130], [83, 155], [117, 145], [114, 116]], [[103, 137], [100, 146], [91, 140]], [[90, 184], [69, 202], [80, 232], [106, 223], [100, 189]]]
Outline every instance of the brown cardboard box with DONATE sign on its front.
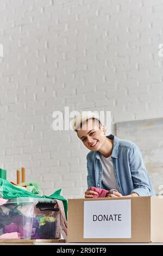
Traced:
[[68, 199], [68, 242], [163, 242], [162, 230], [163, 198]]

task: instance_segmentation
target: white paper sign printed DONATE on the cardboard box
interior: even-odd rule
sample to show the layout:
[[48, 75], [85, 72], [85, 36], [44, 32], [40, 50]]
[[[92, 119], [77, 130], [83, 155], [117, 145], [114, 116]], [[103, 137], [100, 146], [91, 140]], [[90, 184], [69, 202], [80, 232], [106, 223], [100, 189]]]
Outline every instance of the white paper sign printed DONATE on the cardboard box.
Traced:
[[131, 238], [131, 200], [84, 201], [84, 238]]

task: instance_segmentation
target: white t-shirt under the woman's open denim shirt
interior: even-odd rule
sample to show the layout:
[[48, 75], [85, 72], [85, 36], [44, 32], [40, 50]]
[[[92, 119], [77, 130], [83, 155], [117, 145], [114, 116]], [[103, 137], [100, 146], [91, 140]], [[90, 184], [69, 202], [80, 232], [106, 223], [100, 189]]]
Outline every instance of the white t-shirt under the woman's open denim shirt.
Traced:
[[102, 176], [103, 184], [109, 190], [112, 190], [113, 188], [117, 190], [117, 183], [115, 179], [114, 167], [111, 161], [111, 156], [104, 157], [102, 154], [100, 154], [100, 159], [101, 159], [102, 168], [103, 168], [103, 176]]

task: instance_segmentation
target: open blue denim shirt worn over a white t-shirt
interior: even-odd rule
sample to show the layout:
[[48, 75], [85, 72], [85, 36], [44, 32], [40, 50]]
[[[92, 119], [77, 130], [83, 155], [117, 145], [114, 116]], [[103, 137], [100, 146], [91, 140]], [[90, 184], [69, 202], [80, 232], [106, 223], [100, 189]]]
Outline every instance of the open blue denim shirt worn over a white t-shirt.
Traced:
[[[118, 192], [122, 196], [137, 193], [139, 196], [155, 196], [153, 186], [147, 173], [142, 154], [133, 142], [106, 136], [114, 139], [111, 161], [114, 166]], [[87, 156], [87, 186], [104, 188], [102, 183], [102, 163], [99, 151], [90, 151]]]

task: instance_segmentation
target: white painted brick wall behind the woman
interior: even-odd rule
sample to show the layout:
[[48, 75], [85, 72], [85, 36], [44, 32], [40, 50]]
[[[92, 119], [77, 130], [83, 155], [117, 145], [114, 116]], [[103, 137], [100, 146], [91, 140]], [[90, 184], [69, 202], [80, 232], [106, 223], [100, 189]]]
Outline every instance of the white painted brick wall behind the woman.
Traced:
[[87, 149], [53, 131], [52, 113], [111, 111], [112, 122], [162, 117], [162, 0], [1, 0], [0, 166], [83, 197]]

